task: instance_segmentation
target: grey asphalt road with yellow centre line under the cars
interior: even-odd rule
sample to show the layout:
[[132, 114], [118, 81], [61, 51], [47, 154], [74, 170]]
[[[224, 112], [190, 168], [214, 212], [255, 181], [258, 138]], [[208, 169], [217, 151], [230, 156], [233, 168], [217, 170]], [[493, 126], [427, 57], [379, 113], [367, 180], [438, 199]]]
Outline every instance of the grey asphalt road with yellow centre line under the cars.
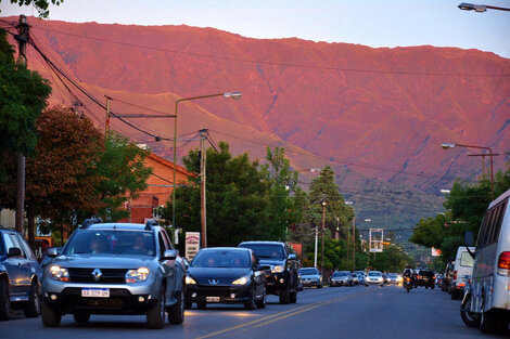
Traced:
[[[498, 338], [467, 327], [458, 300], [438, 289], [407, 294], [396, 286], [305, 289], [296, 304], [281, 305], [269, 296], [264, 310], [212, 305], [189, 310], [183, 325], [145, 329], [144, 316], [92, 315], [89, 324], [71, 315], [59, 328], [43, 328], [39, 318], [16, 315], [0, 323], [1, 338]], [[507, 336], [509, 338], [510, 336]]]

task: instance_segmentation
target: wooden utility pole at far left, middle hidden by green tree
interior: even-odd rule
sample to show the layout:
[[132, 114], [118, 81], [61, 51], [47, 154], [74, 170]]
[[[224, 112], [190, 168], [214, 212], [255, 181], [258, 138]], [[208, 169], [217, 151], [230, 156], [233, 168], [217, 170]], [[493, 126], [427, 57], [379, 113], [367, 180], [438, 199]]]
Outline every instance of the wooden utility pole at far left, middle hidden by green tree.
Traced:
[[[25, 15], [20, 15], [20, 22], [16, 26], [18, 35], [15, 36], [18, 42], [17, 63], [26, 67], [26, 43], [28, 42], [29, 27]], [[23, 234], [23, 224], [25, 220], [25, 156], [17, 154], [17, 172], [16, 172], [16, 220], [15, 229]]]

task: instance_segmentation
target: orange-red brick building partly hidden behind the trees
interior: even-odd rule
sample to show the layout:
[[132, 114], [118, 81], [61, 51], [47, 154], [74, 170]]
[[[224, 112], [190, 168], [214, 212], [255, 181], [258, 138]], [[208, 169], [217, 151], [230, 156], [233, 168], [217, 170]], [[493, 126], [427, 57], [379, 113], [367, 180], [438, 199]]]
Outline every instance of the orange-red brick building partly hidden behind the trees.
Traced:
[[[153, 218], [153, 209], [171, 201], [174, 190], [174, 164], [154, 154], [149, 154], [145, 158], [145, 166], [151, 167], [152, 174], [146, 183], [148, 188], [140, 192], [136, 200], [126, 203], [125, 208], [130, 209], [131, 217], [124, 219], [124, 222], [145, 223]], [[176, 166], [176, 183], [189, 183], [188, 177], [194, 175], [180, 166]]]

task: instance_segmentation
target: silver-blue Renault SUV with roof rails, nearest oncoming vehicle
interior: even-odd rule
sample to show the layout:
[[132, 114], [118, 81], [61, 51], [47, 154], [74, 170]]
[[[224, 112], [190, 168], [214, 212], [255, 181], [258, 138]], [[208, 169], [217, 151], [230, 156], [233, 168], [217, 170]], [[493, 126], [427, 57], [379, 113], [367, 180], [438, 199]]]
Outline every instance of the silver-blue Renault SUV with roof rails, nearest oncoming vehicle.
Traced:
[[59, 326], [64, 314], [146, 314], [150, 328], [184, 320], [184, 264], [164, 227], [86, 220], [46, 265], [41, 320]]

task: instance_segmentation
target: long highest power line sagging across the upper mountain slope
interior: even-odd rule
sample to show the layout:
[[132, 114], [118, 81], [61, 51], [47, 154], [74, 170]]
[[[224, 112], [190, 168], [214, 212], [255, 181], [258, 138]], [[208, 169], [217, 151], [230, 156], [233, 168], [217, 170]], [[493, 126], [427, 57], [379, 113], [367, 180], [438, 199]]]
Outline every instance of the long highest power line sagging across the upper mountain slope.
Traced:
[[321, 69], [321, 70], [336, 70], [336, 71], [353, 71], [353, 73], [413, 75], [413, 76], [442, 76], [442, 77], [444, 76], [451, 76], [451, 77], [508, 77], [510, 76], [510, 74], [469, 74], [469, 73], [454, 74], [454, 73], [431, 73], [431, 71], [410, 71], [410, 70], [381, 70], [381, 69], [343, 68], [343, 67], [331, 67], [331, 66], [279, 63], [279, 62], [269, 62], [265, 60], [251, 60], [251, 58], [242, 58], [242, 57], [205, 54], [205, 53], [197, 53], [197, 52], [186, 52], [186, 51], [170, 50], [170, 49], [165, 49], [165, 48], [156, 48], [156, 47], [137, 44], [137, 43], [131, 43], [131, 42], [115, 41], [115, 40], [110, 40], [105, 38], [89, 37], [89, 36], [61, 31], [58, 29], [46, 28], [46, 27], [40, 27], [40, 26], [34, 26], [34, 28], [46, 30], [46, 31], [52, 31], [52, 32], [56, 32], [56, 34], [65, 35], [65, 36], [90, 39], [90, 40], [102, 41], [102, 42], [107, 42], [107, 43], [116, 43], [120, 45], [135, 47], [135, 48], [166, 52], [166, 53], [184, 54], [184, 55], [190, 55], [190, 56], [208, 57], [208, 58], [225, 60], [225, 61], [235, 61], [235, 62], [244, 62], [244, 63], [251, 63], [251, 64], [263, 64], [263, 65], [270, 65], [270, 66], [297, 67], [297, 68], [306, 68], [306, 69]]

